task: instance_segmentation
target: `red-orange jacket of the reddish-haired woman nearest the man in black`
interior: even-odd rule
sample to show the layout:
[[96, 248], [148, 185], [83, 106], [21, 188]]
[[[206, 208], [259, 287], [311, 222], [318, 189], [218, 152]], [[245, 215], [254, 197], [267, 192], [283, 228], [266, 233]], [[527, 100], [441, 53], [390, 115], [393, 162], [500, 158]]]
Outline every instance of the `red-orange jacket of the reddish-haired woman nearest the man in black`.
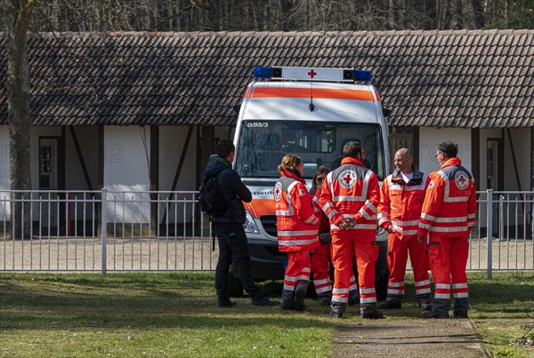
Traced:
[[273, 194], [279, 251], [310, 251], [319, 246], [319, 218], [304, 179], [282, 171]]

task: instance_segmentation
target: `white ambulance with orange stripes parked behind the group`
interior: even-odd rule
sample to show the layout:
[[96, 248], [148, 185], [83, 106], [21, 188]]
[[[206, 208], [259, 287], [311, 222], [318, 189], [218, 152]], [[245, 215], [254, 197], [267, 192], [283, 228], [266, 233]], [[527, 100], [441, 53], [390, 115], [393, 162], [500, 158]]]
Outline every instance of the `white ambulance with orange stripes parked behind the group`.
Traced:
[[[388, 174], [387, 125], [371, 74], [353, 68], [255, 68], [239, 109], [234, 169], [253, 195], [247, 210], [248, 245], [255, 279], [282, 280], [287, 257], [278, 250], [272, 190], [284, 155], [299, 155], [308, 185], [321, 165], [340, 165], [344, 144], [363, 143], [366, 165], [382, 181]], [[385, 298], [387, 235], [376, 232], [380, 256], [376, 291]], [[234, 272], [234, 274], [237, 274]], [[231, 294], [242, 293], [239, 279]]]

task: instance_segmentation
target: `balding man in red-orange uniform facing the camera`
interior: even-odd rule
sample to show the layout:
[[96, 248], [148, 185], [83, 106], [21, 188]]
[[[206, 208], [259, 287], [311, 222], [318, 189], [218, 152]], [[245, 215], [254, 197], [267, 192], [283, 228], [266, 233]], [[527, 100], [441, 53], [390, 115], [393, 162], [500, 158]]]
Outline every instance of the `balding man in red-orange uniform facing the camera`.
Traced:
[[432, 306], [426, 242], [418, 243], [416, 240], [429, 179], [412, 163], [412, 155], [407, 148], [401, 148], [395, 153], [394, 163], [397, 169], [384, 179], [378, 205], [378, 225], [389, 233], [387, 263], [390, 271], [387, 298], [380, 308], [401, 308], [409, 254], [417, 303], [419, 307], [429, 311]]

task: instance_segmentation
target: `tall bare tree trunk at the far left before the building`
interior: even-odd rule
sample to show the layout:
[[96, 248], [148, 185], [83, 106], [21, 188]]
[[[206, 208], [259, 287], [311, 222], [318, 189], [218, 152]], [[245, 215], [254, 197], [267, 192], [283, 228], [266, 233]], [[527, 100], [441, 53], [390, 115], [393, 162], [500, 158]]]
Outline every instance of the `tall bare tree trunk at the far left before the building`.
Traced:
[[[9, 122], [10, 175], [12, 190], [31, 189], [29, 153], [29, 67], [27, 33], [31, 2], [12, 0], [12, 28], [7, 44], [7, 118]], [[29, 238], [29, 195], [12, 195], [12, 227], [17, 239]]]

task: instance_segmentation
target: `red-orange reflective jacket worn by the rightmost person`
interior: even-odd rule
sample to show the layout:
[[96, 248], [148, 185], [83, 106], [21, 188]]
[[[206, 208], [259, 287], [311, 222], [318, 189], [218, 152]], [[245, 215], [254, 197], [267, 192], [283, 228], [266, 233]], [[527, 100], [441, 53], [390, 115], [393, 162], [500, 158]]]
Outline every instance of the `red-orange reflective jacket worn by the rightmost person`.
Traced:
[[450, 158], [430, 173], [417, 235], [467, 236], [473, 228], [476, 192], [473, 175], [459, 158]]

